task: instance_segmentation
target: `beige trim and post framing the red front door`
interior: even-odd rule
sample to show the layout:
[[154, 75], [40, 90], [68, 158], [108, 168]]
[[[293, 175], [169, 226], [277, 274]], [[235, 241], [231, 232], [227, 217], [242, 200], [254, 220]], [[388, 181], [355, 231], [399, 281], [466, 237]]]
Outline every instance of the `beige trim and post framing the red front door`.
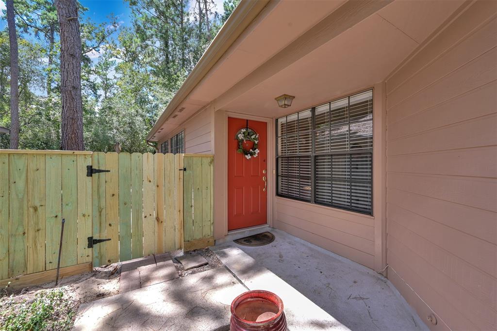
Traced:
[[[223, 196], [224, 199], [220, 199], [219, 203], [214, 201], [215, 207], [214, 210], [216, 212], [216, 208], [222, 208], [222, 219], [216, 222], [215, 219], [215, 239], [221, 239], [228, 235], [228, 117], [238, 118], [238, 119], [248, 119], [253, 121], [265, 122], [267, 124], [267, 223], [270, 227], [273, 226], [273, 210], [274, 210], [274, 184], [275, 184], [275, 176], [274, 176], [274, 120], [268, 117], [261, 116], [253, 116], [249, 114], [241, 114], [235, 112], [228, 112], [218, 110], [217, 112], [222, 112], [224, 114], [220, 114], [222, 117], [222, 131], [216, 132], [216, 141], [220, 141], [219, 144], [216, 142], [215, 146], [215, 156], [214, 162], [218, 160], [221, 164], [218, 165], [218, 171], [223, 174]], [[221, 119], [219, 119], [221, 120]], [[219, 139], [219, 140], [218, 140]], [[220, 145], [222, 144], [222, 146]], [[219, 153], [219, 149], [222, 150]], [[222, 154], [222, 155], [219, 155]], [[216, 227], [220, 227], [218, 231], [216, 231]], [[216, 236], [217, 234], [217, 236]]]

